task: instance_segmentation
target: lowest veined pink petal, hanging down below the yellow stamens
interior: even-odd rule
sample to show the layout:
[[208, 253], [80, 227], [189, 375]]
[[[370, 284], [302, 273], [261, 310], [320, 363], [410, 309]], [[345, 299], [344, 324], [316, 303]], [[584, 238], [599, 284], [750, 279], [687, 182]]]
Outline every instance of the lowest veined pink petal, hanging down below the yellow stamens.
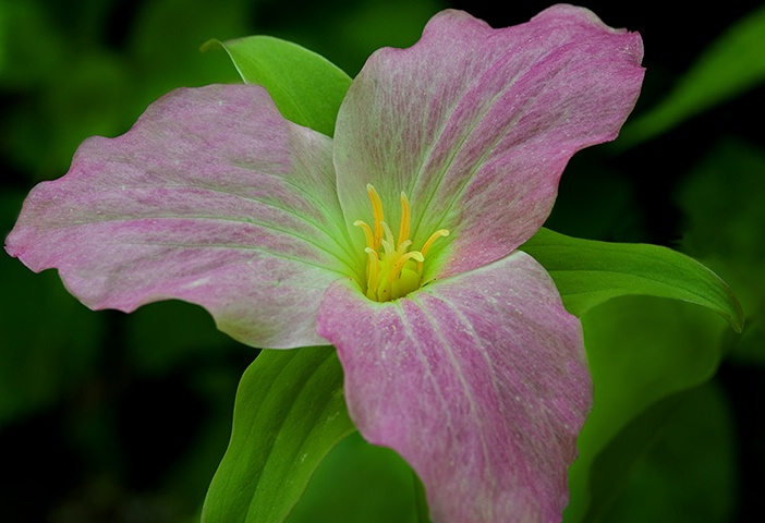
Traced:
[[339, 280], [318, 332], [361, 434], [417, 472], [434, 522], [560, 521], [591, 380], [579, 320], [531, 256], [387, 303]]

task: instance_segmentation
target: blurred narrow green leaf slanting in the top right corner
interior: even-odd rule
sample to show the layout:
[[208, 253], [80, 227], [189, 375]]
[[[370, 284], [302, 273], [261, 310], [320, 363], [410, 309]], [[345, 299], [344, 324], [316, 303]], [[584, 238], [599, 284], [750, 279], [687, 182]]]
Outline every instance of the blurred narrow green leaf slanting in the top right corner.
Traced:
[[619, 142], [634, 146], [765, 81], [765, 5], [728, 27], [653, 109], [624, 125]]

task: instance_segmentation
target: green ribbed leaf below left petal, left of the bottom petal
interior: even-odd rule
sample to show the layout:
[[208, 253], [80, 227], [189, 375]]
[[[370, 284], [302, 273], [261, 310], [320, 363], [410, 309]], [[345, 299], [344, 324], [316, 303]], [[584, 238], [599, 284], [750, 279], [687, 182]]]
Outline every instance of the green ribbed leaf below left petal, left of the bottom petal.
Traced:
[[331, 346], [266, 350], [242, 377], [203, 522], [281, 522], [324, 457], [355, 430]]

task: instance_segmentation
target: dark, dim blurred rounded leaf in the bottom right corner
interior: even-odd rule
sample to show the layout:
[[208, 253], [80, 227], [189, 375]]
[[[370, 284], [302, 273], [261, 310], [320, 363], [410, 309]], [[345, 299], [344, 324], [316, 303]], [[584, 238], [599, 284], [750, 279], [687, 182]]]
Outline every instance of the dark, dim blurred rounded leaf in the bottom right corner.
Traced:
[[[661, 433], [652, 438], [654, 445], [635, 464], [622, 496], [608, 515], [600, 519], [591, 512], [587, 521], [736, 521], [739, 449], [724, 391], [712, 381], [668, 400], [672, 409], [664, 409]], [[656, 414], [652, 409], [646, 416]], [[643, 422], [642, 417], [638, 422]], [[618, 455], [604, 455], [598, 461], [612, 466], [609, 459]]]

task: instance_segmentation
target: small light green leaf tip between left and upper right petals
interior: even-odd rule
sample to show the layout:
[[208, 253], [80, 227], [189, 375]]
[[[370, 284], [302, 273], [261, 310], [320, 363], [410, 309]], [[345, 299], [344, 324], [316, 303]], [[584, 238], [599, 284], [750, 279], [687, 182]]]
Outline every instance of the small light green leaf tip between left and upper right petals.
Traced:
[[268, 89], [281, 114], [295, 123], [332, 136], [335, 120], [351, 77], [324, 57], [291, 41], [251, 36], [220, 42], [247, 84]]

